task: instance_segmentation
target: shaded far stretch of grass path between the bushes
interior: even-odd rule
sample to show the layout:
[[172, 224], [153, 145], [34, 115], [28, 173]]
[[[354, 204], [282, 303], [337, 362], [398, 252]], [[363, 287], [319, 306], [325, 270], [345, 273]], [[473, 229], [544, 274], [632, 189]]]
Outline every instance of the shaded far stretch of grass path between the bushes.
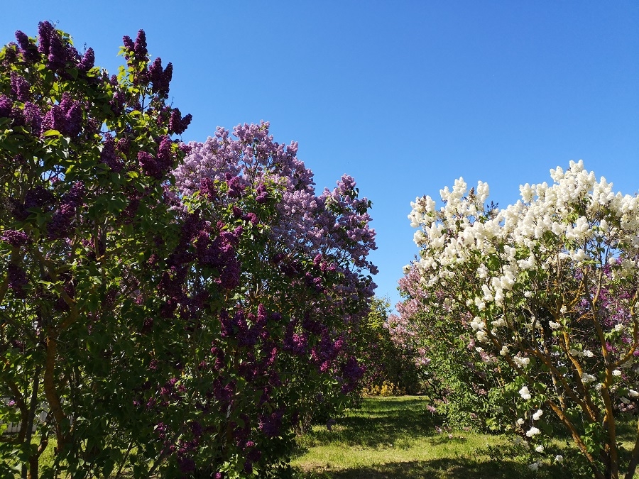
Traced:
[[[393, 444], [398, 439], [417, 439], [439, 434], [437, 418], [426, 409], [428, 401], [375, 399], [367, 401], [352, 415], [343, 417], [332, 431], [320, 429], [307, 434], [314, 446], [339, 442], [348, 446], [376, 448]], [[303, 451], [300, 451], [303, 453]]]

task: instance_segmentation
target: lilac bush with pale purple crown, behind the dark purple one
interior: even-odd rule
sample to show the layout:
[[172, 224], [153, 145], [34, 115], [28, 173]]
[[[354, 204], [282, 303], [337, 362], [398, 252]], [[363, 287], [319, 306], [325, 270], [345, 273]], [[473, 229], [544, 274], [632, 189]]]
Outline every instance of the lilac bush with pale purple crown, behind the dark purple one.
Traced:
[[[297, 143], [275, 143], [268, 123], [239, 125], [234, 137], [218, 128], [214, 138], [190, 143], [189, 155], [174, 172], [175, 183], [182, 195], [193, 194], [199, 187], [208, 197], [218, 197], [215, 185], [224, 185], [231, 199], [224, 202], [229, 211], [236, 218], [261, 224], [263, 247], [242, 260], [242, 283], [251, 285], [242, 301], [269, 304], [282, 316], [279, 334], [282, 351], [289, 353], [286, 368], [308, 377], [315, 373], [304, 368], [311, 367], [324, 378], [324, 386], [304, 395], [295, 392], [302, 383], [293, 377], [279, 387], [282, 391], [290, 387], [289, 394], [299, 396], [285, 419], [305, 422], [312, 409], [326, 409], [324, 414], [330, 414], [336, 394], [354, 392], [362, 374], [354, 359], [349, 359], [354, 347], [349, 336], [368, 313], [375, 287], [365, 274], [376, 273], [367, 258], [369, 250], [376, 248], [375, 233], [368, 226], [371, 203], [358, 198], [355, 182], [348, 176], [332, 191], [315, 194], [312, 172], [297, 159]], [[276, 198], [270, 192], [273, 187], [278, 191]], [[234, 198], [247, 189], [256, 192], [257, 204], [274, 204], [271, 219], [256, 219], [237, 207]], [[334, 378], [337, 391], [328, 387]]]

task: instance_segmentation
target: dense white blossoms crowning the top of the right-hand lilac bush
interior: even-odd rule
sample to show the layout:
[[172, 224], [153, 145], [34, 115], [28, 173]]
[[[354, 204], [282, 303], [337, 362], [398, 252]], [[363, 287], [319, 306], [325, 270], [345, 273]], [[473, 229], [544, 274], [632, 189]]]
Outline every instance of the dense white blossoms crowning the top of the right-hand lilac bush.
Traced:
[[[444, 207], [437, 210], [435, 200], [421, 197], [411, 203], [413, 210], [408, 216], [411, 226], [418, 228], [415, 243], [424, 248], [419, 268], [428, 272], [427, 277], [447, 276], [448, 266], [464, 263], [472, 253], [484, 257], [496, 253], [496, 244], [503, 245], [503, 258], [506, 260], [498, 275], [482, 264], [477, 269], [479, 280], [484, 280], [483, 294], [476, 303], [501, 303], [513, 289], [516, 278], [522, 270], [530, 270], [539, 265], [535, 253], [537, 244], [545, 233], [563, 235], [567, 241], [581, 241], [595, 234], [600, 236], [631, 235], [629, 243], [639, 246], [636, 235], [639, 227], [637, 212], [638, 197], [621, 193], [613, 194], [612, 185], [602, 177], [596, 181], [593, 172], [584, 170], [583, 162], [570, 163], [564, 172], [557, 167], [551, 170], [554, 185], [523, 185], [520, 187], [522, 201], [506, 209], [496, 211], [491, 217], [477, 221], [484, 214], [484, 204], [488, 198], [488, 185], [479, 182], [474, 194], [467, 191], [463, 178], [455, 180], [452, 191], [448, 187], [440, 191]], [[594, 214], [603, 207], [611, 211], [611, 216], [620, 219], [621, 228], [611, 226], [611, 221], [599, 221], [592, 227], [588, 216], [579, 216], [575, 221], [564, 221], [557, 211], [571, 213], [570, 205], [587, 199], [586, 215]], [[623, 231], [621, 231], [623, 230]], [[525, 248], [530, 254], [519, 258], [518, 248]], [[588, 258], [589, 253], [581, 248], [564, 251], [564, 258], [580, 262]], [[634, 268], [633, 262], [628, 267]]]

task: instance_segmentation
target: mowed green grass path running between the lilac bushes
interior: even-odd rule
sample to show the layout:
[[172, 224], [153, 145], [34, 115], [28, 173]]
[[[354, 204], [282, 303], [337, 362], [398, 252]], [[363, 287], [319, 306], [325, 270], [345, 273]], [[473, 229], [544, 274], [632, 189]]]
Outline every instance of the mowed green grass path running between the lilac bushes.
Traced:
[[[418, 396], [368, 397], [332, 431], [316, 426], [300, 437], [292, 465], [302, 478], [538, 478], [527, 463], [495, 461], [488, 446], [506, 446], [512, 438], [435, 430], [437, 420]], [[544, 477], [566, 478], [545, 466]]]

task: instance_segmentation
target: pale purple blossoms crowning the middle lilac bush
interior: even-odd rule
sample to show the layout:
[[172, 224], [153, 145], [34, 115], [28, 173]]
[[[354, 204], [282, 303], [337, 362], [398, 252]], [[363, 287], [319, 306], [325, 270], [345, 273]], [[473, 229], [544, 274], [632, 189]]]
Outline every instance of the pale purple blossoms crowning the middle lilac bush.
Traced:
[[[297, 159], [297, 143], [288, 146], [273, 141], [268, 123], [239, 125], [234, 128], [236, 141], [229, 131], [218, 128], [214, 138], [204, 143], [191, 143], [185, 162], [174, 171], [176, 186], [183, 194], [191, 194], [203, 185], [202, 180], [225, 181], [229, 196], [241, 194], [241, 187], [251, 184], [258, 192], [257, 201], [266, 202], [269, 180], [283, 187], [283, 198], [277, 204], [278, 222], [272, 225], [271, 240], [283, 248], [306, 254], [329, 251], [349, 258], [342, 272], [349, 277], [344, 294], [361, 290], [358, 272], [377, 268], [366, 259], [368, 251], [376, 249], [375, 232], [368, 226], [371, 217], [368, 199], [358, 199], [354, 180], [344, 175], [333, 191], [324, 189], [315, 196], [313, 175]], [[209, 187], [207, 185], [207, 191]], [[356, 270], [351, 270], [354, 265]], [[353, 274], [354, 273], [354, 274]], [[320, 281], [316, 278], [315, 285]], [[362, 292], [370, 296], [370, 283]]]

